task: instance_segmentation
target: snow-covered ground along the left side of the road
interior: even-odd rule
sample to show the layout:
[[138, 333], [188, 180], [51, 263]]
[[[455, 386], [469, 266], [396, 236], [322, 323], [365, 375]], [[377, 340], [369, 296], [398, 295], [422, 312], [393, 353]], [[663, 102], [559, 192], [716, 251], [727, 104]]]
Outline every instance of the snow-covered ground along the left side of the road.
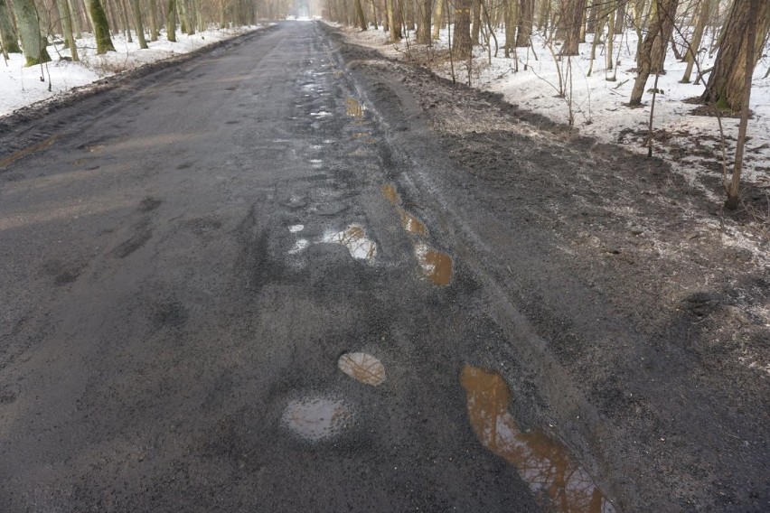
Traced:
[[194, 51], [214, 42], [230, 39], [242, 33], [251, 32], [259, 26], [244, 26], [230, 29], [210, 29], [202, 33], [187, 35], [176, 33], [177, 42], [168, 42], [165, 31], [158, 41], [147, 41], [146, 50], [139, 50], [139, 43], [127, 42], [123, 34], [112, 36], [116, 51], [105, 55], [96, 54], [96, 42], [90, 33], [83, 33], [77, 40], [80, 62], [61, 60], [70, 58], [70, 51], [62, 48], [61, 41], [48, 46], [52, 62], [42, 66], [24, 68], [23, 55], [9, 54], [5, 66], [0, 64], [0, 117], [11, 114], [20, 107], [49, 99], [73, 88], [79, 88], [96, 80], [114, 75], [120, 71], [133, 70], [149, 62], [174, 57], [180, 53]]

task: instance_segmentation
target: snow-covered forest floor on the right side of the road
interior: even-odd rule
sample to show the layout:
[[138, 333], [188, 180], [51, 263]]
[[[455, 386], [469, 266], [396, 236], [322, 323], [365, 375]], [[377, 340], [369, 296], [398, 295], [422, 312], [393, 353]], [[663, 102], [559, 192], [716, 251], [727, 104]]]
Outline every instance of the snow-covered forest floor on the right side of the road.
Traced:
[[[441, 32], [441, 38], [434, 44], [432, 50], [419, 47], [414, 41], [402, 41], [391, 44], [388, 34], [381, 30], [370, 29], [361, 32], [358, 29], [341, 28], [347, 37], [362, 45], [378, 49], [384, 54], [396, 58], [411, 57], [426, 63], [437, 74], [451, 78], [450, 64], [446, 58], [448, 53], [447, 32]], [[413, 34], [411, 34], [413, 39]], [[518, 70], [513, 59], [503, 57], [505, 33], [498, 32], [497, 44], [499, 50], [494, 57], [495, 43], [492, 38], [491, 53], [486, 48], [477, 47], [474, 52], [474, 62], [470, 72], [471, 85], [475, 88], [502, 93], [512, 104], [537, 112], [559, 123], [568, 123], [569, 106], [564, 97], [559, 96], [559, 71], [551, 50], [558, 53], [559, 48], [549, 49], [541, 34], [532, 36], [531, 48], [519, 48], [516, 51]], [[604, 41], [602, 38], [601, 41]], [[709, 38], [710, 39], [710, 38]], [[639, 152], [647, 152], [644, 147], [646, 135], [640, 133], [646, 130], [650, 117], [652, 93], [645, 93], [644, 105], [641, 108], [630, 108], [624, 104], [631, 96], [634, 87], [637, 36], [634, 31], [615, 37], [615, 70], [606, 69], [606, 49], [603, 44], [596, 48], [596, 61], [590, 77], [587, 71], [590, 66], [592, 36], [587, 36], [587, 42], [580, 45], [580, 54], [569, 59], [571, 81], [568, 79], [568, 61], [559, 62], [562, 89], [572, 98], [574, 125], [584, 135], [591, 135], [606, 143], [624, 145], [626, 148]], [[708, 41], [708, 40], [707, 40]], [[765, 52], [767, 53], [767, 52]], [[714, 62], [716, 54], [709, 56], [708, 52], [700, 53], [700, 68], [708, 70]], [[720, 154], [719, 128], [716, 117], [693, 116], [690, 113], [700, 105], [685, 103], [682, 100], [699, 96], [703, 92], [701, 84], [682, 84], [680, 82], [685, 69], [685, 63], [677, 61], [669, 51], [666, 61], [666, 74], [658, 80], [659, 91], [655, 99], [653, 127], [664, 135], [665, 143], [656, 142], [654, 154], [669, 157], [674, 169], [693, 183], [700, 185], [697, 180], [704, 173], [721, 176], [721, 171], [715, 165]], [[766, 55], [758, 63], [751, 96], [751, 109], [754, 117], [749, 121], [744, 182], [752, 182], [758, 187], [770, 192], [770, 78], [763, 78], [770, 66], [770, 58]], [[468, 83], [467, 61], [454, 62], [455, 79]], [[615, 76], [616, 72], [616, 76]], [[698, 76], [697, 68], [693, 70], [691, 79]], [[614, 77], [614, 81], [607, 78]], [[707, 76], [708, 78], [708, 76]], [[647, 89], [653, 88], [654, 76], [648, 80]], [[571, 87], [570, 87], [571, 84]], [[726, 135], [726, 150], [728, 158], [728, 173], [732, 172], [730, 160], [734, 155], [737, 137], [736, 118], [722, 118]], [[664, 131], [664, 132], [663, 132]], [[691, 151], [698, 150], [698, 151]], [[673, 158], [676, 157], [676, 158]], [[709, 194], [714, 192], [709, 189]], [[715, 195], [715, 200], [718, 200]]]

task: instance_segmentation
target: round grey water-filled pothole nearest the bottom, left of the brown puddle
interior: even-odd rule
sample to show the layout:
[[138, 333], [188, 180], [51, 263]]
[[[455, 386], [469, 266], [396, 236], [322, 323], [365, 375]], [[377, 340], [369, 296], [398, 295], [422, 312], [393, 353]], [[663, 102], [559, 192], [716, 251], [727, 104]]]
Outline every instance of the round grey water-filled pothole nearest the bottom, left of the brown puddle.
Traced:
[[340, 434], [352, 423], [352, 409], [331, 397], [304, 397], [289, 401], [281, 422], [298, 436], [318, 442]]

